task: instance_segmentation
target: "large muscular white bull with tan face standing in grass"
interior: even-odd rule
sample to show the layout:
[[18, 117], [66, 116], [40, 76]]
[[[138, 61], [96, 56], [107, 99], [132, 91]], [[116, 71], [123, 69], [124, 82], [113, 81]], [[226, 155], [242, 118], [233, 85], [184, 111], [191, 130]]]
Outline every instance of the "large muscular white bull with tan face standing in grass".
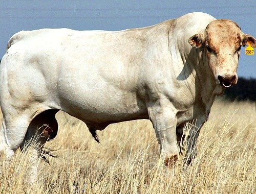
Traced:
[[63, 110], [97, 141], [96, 130], [109, 124], [150, 119], [166, 165], [177, 160], [177, 138], [193, 123], [191, 158], [216, 95], [237, 83], [240, 48], [248, 41], [255, 47], [236, 23], [205, 13], [118, 32], [18, 32], [0, 67], [0, 151], [10, 160], [33, 136], [40, 150], [55, 137], [55, 114]]

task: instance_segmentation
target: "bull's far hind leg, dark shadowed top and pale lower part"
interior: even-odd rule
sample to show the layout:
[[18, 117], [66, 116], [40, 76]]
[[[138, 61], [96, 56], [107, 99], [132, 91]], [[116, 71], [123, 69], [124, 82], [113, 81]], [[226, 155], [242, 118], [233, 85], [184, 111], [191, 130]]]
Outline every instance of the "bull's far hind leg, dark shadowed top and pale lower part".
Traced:
[[30, 123], [26, 136], [22, 144], [22, 150], [30, 148], [30, 160], [28, 166], [28, 182], [35, 181], [37, 176], [38, 159], [42, 154], [42, 149], [46, 141], [53, 139], [58, 131], [58, 123], [55, 114], [58, 110], [46, 110], [37, 115]]

